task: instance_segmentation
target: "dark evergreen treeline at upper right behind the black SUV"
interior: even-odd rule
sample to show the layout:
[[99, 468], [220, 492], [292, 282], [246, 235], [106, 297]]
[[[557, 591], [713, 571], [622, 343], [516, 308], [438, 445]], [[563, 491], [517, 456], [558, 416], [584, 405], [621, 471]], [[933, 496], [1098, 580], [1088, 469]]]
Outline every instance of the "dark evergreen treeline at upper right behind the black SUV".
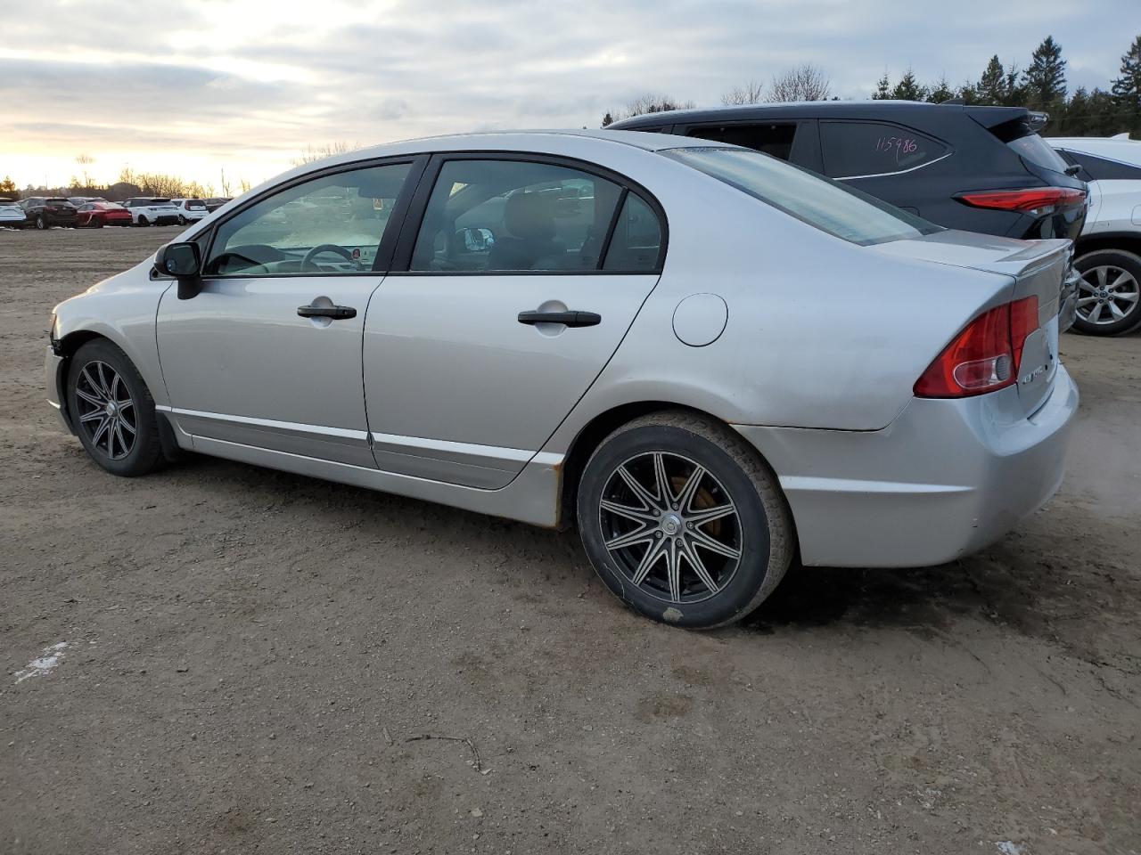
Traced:
[[1017, 62], [1003, 65], [995, 55], [978, 81], [958, 87], [946, 78], [921, 83], [911, 68], [892, 84], [885, 72], [872, 97], [933, 103], [960, 98], [964, 104], [1039, 109], [1050, 114], [1045, 136], [1109, 137], [1123, 131], [1141, 136], [1141, 35], [1122, 56], [1120, 73], [1108, 90], [1078, 87], [1068, 93], [1066, 64], [1061, 44], [1047, 35], [1026, 68]]

